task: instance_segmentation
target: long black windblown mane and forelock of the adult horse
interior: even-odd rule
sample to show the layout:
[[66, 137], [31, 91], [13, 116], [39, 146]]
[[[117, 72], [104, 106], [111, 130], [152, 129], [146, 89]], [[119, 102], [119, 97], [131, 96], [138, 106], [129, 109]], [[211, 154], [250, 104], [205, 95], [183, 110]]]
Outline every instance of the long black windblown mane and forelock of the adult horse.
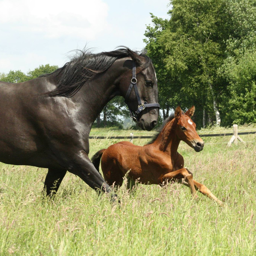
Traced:
[[[63, 67], [53, 72], [57, 76], [60, 76], [57, 87], [54, 90], [47, 92], [45, 95], [51, 97], [73, 96], [86, 82], [102, 75], [108, 70], [114, 61], [120, 58], [129, 57], [129, 51], [130, 49], [128, 47], [96, 54], [87, 49], [77, 50], [76, 55], [70, 62], [67, 62]], [[151, 64], [151, 59], [145, 55], [145, 50], [142, 52], [135, 52], [145, 58], [145, 63], [137, 70], [138, 73], [145, 70]]]

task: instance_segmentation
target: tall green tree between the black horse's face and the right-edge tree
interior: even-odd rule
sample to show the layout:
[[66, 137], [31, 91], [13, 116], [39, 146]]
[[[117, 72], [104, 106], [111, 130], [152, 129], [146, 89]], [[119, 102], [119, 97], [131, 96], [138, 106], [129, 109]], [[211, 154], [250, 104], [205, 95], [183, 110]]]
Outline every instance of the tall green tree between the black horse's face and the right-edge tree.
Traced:
[[215, 113], [215, 120], [220, 122], [217, 100], [225, 85], [217, 74], [225, 59], [225, 42], [231, 33], [227, 2], [171, 0], [170, 4], [168, 23], [152, 15], [154, 25], [148, 26], [145, 33], [146, 48], [153, 63], [155, 56], [162, 58], [164, 71], [160, 77], [164, 79], [159, 84], [160, 93], [169, 96], [172, 108], [195, 105], [195, 119], [200, 126], [205, 111], [209, 117]]

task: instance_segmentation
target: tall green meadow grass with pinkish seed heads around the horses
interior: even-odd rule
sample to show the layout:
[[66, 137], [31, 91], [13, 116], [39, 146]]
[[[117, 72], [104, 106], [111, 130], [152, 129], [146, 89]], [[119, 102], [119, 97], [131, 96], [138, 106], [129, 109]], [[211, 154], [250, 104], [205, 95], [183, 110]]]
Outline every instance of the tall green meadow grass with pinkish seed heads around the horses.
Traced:
[[[0, 255], [256, 255], [256, 143], [204, 139], [200, 153], [184, 143], [179, 152], [224, 207], [201, 194], [192, 200], [177, 183], [138, 185], [131, 195], [122, 186], [117, 207], [69, 173], [47, 201], [46, 169], [0, 164]], [[91, 140], [90, 156], [116, 142]]]

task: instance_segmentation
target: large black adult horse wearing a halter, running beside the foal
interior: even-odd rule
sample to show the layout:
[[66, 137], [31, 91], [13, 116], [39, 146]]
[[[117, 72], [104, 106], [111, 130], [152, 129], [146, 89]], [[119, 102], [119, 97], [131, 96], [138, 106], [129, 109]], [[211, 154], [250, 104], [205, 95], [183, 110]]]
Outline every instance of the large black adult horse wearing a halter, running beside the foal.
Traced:
[[128, 48], [81, 51], [53, 73], [23, 83], [0, 82], [0, 161], [48, 168], [47, 195], [57, 192], [67, 170], [91, 188], [111, 192], [88, 157], [89, 134], [96, 117], [117, 95], [126, 96], [143, 130], [156, 125], [159, 106], [148, 104], [157, 103], [150, 58]]

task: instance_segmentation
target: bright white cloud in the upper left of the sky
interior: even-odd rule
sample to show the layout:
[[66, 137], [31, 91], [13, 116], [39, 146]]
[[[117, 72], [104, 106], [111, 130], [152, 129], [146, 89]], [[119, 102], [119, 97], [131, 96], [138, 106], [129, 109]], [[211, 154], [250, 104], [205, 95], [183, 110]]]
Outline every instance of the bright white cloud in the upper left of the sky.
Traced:
[[107, 16], [103, 0], [0, 0], [0, 24], [48, 38], [94, 40], [108, 29]]

